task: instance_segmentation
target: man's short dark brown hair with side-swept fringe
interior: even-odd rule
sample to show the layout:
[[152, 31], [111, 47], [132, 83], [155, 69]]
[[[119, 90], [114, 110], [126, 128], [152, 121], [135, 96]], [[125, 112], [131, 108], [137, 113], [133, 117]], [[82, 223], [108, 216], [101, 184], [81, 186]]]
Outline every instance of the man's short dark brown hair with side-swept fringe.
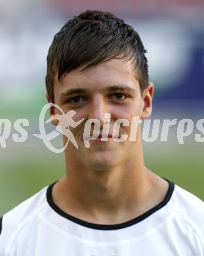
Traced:
[[[133, 61], [142, 92], [148, 86], [147, 51], [138, 33], [111, 12], [85, 11], [68, 20], [54, 35], [47, 55], [47, 94], [54, 102], [54, 77], [58, 81], [75, 68], [89, 68], [112, 58]], [[84, 69], [85, 69], [84, 68]]]

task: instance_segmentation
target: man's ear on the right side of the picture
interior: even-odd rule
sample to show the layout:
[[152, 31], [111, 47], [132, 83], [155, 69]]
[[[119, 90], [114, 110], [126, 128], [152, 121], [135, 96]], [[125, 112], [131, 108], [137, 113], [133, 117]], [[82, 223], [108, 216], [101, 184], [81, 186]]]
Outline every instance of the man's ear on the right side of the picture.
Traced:
[[143, 110], [141, 114], [141, 119], [148, 119], [152, 115], [152, 98], [153, 98], [153, 83], [148, 83], [148, 87], [144, 89], [142, 93], [143, 100]]

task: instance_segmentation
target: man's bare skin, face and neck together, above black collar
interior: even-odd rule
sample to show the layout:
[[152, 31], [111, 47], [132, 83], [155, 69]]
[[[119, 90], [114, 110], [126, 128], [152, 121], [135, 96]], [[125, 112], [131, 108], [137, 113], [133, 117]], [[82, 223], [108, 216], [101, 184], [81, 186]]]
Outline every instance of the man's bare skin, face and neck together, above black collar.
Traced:
[[[97, 66], [73, 70], [62, 81], [55, 79], [54, 98], [64, 113], [75, 110], [75, 121], [96, 118], [101, 125], [105, 113], [111, 113], [110, 134], [119, 118], [152, 114], [153, 85], [140, 93], [131, 62], [109, 60]], [[125, 89], [114, 91], [115, 85]], [[64, 94], [69, 89], [85, 89], [83, 93]], [[64, 96], [62, 96], [64, 95]], [[46, 95], [47, 96], [47, 95]], [[49, 96], [47, 100], [51, 102]], [[60, 114], [51, 108], [50, 115]], [[52, 121], [54, 125], [57, 120]], [[124, 223], [160, 203], [169, 184], [144, 165], [140, 127], [136, 141], [91, 141], [85, 148], [84, 122], [72, 129], [79, 148], [68, 144], [65, 151], [66, 175], [52, 189], [52, 199], [64, 212], [96, 224]], [[130, 134], [131, 126], [121, 125], [121, 134]], [[102, 127], [101, 127], [102, 131]], [[66, 143], [66, 137], [64, 144]]]

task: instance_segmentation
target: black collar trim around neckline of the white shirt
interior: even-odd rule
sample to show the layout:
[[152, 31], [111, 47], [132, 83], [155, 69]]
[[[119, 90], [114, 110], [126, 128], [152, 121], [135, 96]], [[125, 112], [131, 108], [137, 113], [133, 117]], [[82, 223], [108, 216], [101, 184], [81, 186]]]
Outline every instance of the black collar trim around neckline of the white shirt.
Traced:
[[47, 202], [52, 207], [52, 209], [54, 211], [56, 211], [56, 213], [58, 213], [59, 215], [61, 215], [62, 217], [66, 218], [70, 221], [73, 221], [74, 223], [80, 224], [82, 226], [86, 226], [88, 228], [98, 229], [98, 230], [117, 230], [117, 229], [120, 229], [120, 228], [127, 228], [128, 226], [132, 226], [133, 224], [136, 224], [136, 223], [139, 223], [140, 221], [143, 221], [144, 219], [146, 219], [147, 217], [149, 217], [150, 215], [155, 213], [155, 211], [158, 211], [159, 209], [164, 207], [169, 202], [169, 200], [171, 199], [171, 196], [173, 194], [173, 191], [174, 191], [174, 182], [169, 181], [167, 179], [165, 179], [165, 180], [169, 182], [169, 190], [167, 191], [167, 194], [166, 194], [164, 200], [161, 203], [155, 205], [152, 209], [146, 211], [146, 213], [143, 213], [142, 215], [140, 215], [140, 216], [138, 216], [134, 219], [131, 219], [130, 221], [126, 221], [125, 223], [119, 223], [119, 224], [89, 223], [87, 221], [83, 221], [81, 219], [73, 217], [72, 215], [70, 215], [68, 213], [65, 213], [52, 200], [52, 187], [54, 186], [54, 184], [57, 181], [50, 184], [49, 187], [47, 188]]

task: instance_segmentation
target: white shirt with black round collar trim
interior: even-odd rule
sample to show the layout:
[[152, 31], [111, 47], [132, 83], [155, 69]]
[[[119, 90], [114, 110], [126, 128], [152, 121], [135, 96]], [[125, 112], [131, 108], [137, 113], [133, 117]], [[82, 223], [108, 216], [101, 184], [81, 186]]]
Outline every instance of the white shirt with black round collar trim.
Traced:
[[53, 184], [3, 215], [0, 256], [204, 256], [203, 202], [171, 181], [163, 202], [111, 225], [64, 213]]

